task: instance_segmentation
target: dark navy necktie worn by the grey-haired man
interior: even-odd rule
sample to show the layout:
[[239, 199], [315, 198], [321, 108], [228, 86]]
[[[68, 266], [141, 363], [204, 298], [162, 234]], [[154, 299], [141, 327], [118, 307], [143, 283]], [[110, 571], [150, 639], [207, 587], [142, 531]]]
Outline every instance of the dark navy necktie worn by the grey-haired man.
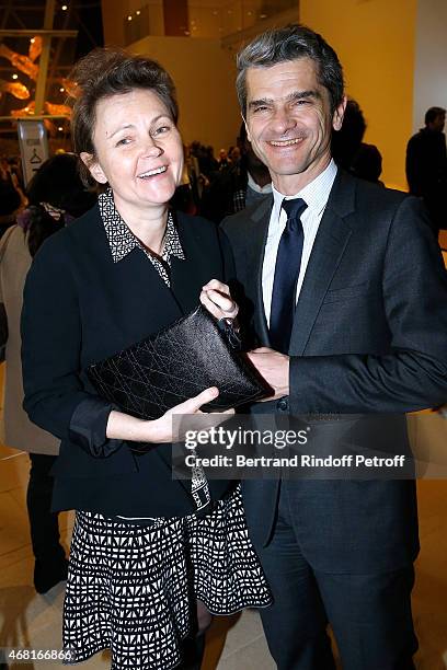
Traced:
[[300, 217], [307, 205], [301, 198], [295, 198], [284, 199], [282, 207], [287, 215], [287, 223], [276, 256], [270, 339], [276, 351], [287, 354], [294, 325], [295, 296], [305, 239]]

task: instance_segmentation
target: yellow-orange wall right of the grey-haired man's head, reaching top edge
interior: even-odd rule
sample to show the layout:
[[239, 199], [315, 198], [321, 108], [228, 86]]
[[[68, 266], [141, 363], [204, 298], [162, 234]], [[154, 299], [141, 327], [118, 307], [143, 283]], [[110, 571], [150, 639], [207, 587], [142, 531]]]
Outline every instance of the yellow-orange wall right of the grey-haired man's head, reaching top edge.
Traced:
[[406, 190], [416, 0], [301, 0], [301, 21], [339, 54], [347, 93], [368, 123], [365, 140], [382, 154], [381, 178], [387, 186]]

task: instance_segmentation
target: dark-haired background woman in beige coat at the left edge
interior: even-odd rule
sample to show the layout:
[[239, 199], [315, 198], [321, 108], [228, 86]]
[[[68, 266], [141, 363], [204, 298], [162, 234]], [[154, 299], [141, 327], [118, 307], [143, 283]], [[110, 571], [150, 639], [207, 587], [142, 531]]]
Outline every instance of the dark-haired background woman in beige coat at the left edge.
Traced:
[[30, 452], [26, 507], [35, 557], [34, 586], [38, 593], [67, 579], [68, 564], [59, 543], [57, 515], [50, 510], [53, 477], [49, 471], [59, 443], [54, 436], [32, 424], [22, 408], [20, 313], [25, 277], [41, 244], [95, 200], [84, 190], [77, 163], [77, 158], [69, 153], [43, 163], [28, 185], [27, 208], [0, 242], [0, 302], [8, 317], [2, 439], [9, 447]]

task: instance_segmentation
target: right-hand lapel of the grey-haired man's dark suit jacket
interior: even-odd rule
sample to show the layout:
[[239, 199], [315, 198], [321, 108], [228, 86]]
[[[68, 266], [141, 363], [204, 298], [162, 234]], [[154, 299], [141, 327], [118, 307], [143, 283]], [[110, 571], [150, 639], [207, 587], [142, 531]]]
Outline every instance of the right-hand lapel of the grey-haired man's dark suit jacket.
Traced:
[[302, 356], [313, 324], [352, 234], [355, 181], [339, 171], [313, 244], [295, 310], [290, 356]]

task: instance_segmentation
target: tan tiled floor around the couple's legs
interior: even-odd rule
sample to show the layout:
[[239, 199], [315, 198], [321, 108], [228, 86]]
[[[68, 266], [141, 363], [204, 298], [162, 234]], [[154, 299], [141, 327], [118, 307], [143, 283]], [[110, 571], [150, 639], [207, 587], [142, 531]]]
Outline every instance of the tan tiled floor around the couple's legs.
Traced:
[[[447, 421], [436, 425], [438, 446], [447, 446]], [[64, 585], [46, 596], [32, 588], [32, 554], [25, 508], [27, 457], [0, 447], [0, 647], [57, 649]], [[7, 460], [4, 460], [7, 459]], [[447, 668], [447, 482], [419, 483], [422, 552], [417, 561], [414, 617], [421, 649], [419, 670]], [[72, 517], [62, 515], [68, 546]], [[59, 663], [12, 663], [21, 670], [50, 670]], [[106, 669], [107, 656], [96, 656], [83, 668]], [[217, 620], [208, 634], [204, 670], [273, 670], [259, 615]], [[358, 670], [362, 670], [360, 668]], [[380, 669], [378, 669], [380, 670]]]

